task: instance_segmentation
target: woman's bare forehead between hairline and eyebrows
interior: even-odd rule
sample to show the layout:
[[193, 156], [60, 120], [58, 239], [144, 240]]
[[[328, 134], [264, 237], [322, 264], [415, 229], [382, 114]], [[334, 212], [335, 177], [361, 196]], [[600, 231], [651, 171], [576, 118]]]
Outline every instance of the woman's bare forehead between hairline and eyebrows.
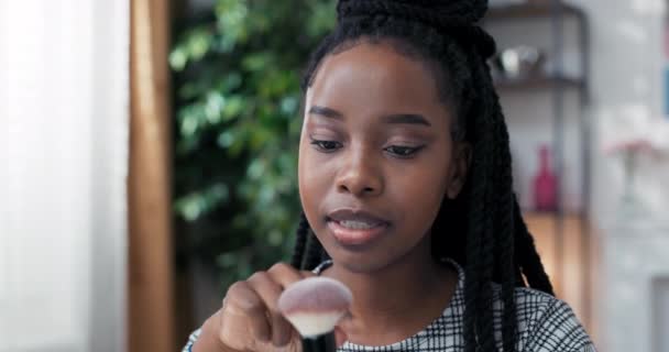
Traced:
[[307, 91], [307, 105], [387, 112], [443, 109], [428, 65], [390, 44], [366, 42], [323, 59]]

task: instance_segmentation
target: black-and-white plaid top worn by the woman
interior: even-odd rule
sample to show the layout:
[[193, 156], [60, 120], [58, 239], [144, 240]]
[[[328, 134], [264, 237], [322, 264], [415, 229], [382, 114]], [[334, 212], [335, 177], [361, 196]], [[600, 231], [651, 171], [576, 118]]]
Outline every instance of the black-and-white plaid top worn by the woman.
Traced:
[[[464, 271], [453, 261], [448, 261], [458, 271], [458, 287], [450, 305], [443, 314], [413, 337], [383, 346], [368, 346], [347, 342], [339, 352], [382, 352], [382, 351], [464, 351]], [[320, 274], [331, 262], [320, 264], [314, 272]], [[502, 351], [501, 287], [494, 286], [493, 324], [497, 350]], [[571, 308], [550, 295], [531, 288], [516, 288], [516, 315], [518, 339], [516, 351], [527, 352], [594, 352], [588, 333]], [[199, 330], [190, 336], [183, 352], [190, 352]]]

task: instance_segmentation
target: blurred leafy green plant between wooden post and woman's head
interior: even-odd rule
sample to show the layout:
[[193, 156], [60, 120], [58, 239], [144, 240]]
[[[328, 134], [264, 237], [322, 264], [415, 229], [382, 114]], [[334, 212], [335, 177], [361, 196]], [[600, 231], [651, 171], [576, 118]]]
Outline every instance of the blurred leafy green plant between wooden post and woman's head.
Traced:
[[293, 246], [300, 73], [332, 13], [332, 0], [217, 0], [174, 25], [176, 240], [222, 288]]

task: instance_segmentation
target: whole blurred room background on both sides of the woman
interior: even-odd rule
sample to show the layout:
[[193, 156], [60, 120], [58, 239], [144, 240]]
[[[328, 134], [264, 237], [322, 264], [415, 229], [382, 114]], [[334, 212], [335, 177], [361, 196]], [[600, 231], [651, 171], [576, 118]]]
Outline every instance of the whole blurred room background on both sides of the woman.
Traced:
[[[333, 0], [0, 0], [0, 351], [178, 351], [286, 260]], [[665, 0], [491, 0], [516, 191], [601, 351], [669, 351]]]

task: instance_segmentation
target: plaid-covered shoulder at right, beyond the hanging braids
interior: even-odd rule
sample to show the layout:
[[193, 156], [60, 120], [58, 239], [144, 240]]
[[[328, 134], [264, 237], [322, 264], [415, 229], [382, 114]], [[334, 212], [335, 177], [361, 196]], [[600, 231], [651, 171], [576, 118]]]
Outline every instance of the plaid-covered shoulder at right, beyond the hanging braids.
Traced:
[[[498, 294], [498, 290], [496, 290]], [[594, 351], [585, 329], [571, 307], [551, 295], [516, 288], [518, 350], [520, 351]], [[501, 306], [501, 300], [495, 299]]]

